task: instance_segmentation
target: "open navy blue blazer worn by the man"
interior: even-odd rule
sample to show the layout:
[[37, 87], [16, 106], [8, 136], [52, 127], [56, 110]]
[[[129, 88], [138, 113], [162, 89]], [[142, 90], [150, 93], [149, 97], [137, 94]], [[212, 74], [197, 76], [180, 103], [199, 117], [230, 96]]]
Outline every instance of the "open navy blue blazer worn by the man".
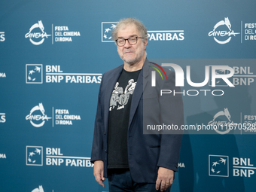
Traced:
[[[157, 84], [152, 89], [151, 71], [154, 69], [149, 66], [154, 65], [146, 59], [133, 93], [128, 126], [128, 162], [133, 181], [138, 183], [155, 183], [159, 166], [178, 171], [182, 139], [181, 134], [143, 134], [143, 115], [146, 114], [145, 111], [143, 112], [143, 103], [144, 106], [151, 106], [151, 110], [147, 108], [149, 125], [164, 122], [180, 127], [184, 123], [181, 94], [160, 96], [161, 89], [180, 92], [180, 88], [175, 87], [175, 73], [166, 69], [168, 80], [165, 81], [157, 74]], [[123, 65], [105, 72], [99, 89], [91, 162], [96, 160], [104, 162], [104, 177], [106, 178], [108, 178], [108, 110], [111, 93], [122, 70]], [[168, 101], [163, 101], [162, 98], [167, 98]]]

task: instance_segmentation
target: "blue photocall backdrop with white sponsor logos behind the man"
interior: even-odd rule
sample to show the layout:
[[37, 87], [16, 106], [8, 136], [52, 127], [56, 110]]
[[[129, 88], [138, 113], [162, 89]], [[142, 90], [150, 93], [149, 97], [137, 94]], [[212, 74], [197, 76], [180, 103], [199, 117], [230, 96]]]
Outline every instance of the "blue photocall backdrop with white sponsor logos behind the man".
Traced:
[[[103, 188], [94, 179], [90, 153], [102, 74], [123, 63], [111, 30], [125, 17], [147, 27], [148, 59], [160, 66], [175, 63], [184, 72], [185, 125], [196, 130], [184, 130], [172, 190], [254, 191], [255, 5], [2, 1], [0, 191], [108, 191], [107, 181]], [[228, 80], [235, 87], [223, 79], [213, 87], [212, 66], [232, 68]], [[192, 82], [203, 82], [205, 70], [210, 75], [205, 85], [187, 81], [190, 74]], [[237, 126], [226, 129], [232, 123]], [[203, 125], [223, 130], [201, 132]]]

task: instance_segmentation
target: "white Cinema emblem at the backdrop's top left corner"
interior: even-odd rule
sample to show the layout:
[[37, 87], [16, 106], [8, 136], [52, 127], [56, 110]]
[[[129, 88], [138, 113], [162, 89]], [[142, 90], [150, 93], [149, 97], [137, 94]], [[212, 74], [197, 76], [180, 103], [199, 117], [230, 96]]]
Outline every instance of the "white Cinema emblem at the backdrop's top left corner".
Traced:
[[[39, 29], [39, 30], [36, 30]], [[36, 32], [32, 32], [33, 30], [35, 30]], [[41, 22], [41, 20], [38, 21], [38, 23], [35, 23], [34, 25], [32, 25], [32, 27], [30, 27], [29, 32], [26, 33], [25, 38], [29, 38], [29, 41], [32, 44], [35, 45], [39, 45], [44, 43], [44, 38], [48, 38], [51, 35], [47, 35], [46, 32], [44, 32], [44, 25]], [[40, 39], [40, 41], [36, 41], [37, 39]]]

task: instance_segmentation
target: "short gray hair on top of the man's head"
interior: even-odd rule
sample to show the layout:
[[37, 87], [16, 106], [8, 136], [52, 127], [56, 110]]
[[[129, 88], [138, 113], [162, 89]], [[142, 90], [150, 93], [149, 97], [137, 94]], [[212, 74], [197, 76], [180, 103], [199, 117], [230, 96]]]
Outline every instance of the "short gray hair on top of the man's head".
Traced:
[[122, 26], [126, 26], [126, 25], [129, 25], [129, 24], [134, 24], [141, 37], [143, 38], [143, 41], [148, 38], [148, 32], [147, 32], [147, 29], [145, 28], [145, 26], [143, 25], [142, 22], [140, 22], [139, 20], [136, 20], [134, 18], [126, 18], [126, 19], [122, 19], [120, 20], [118, 23], [117, 23], [117, 26], [114, 28], [113, 32], [111, 33], [112, 35], [112, 39], [115, 41], [117, 39], [117, 32], [118, 30], [120, 29], [120, 27]]

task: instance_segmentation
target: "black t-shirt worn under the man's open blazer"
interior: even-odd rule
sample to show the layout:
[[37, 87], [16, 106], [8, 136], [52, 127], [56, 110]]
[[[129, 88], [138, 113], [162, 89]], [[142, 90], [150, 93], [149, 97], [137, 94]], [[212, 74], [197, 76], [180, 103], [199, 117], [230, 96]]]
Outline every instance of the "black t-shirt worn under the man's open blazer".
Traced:
[[108, 117], [108, 169], [129, 168], [127, 133], [130, 105], [139, 72], [123, 72], [114, 86]]

